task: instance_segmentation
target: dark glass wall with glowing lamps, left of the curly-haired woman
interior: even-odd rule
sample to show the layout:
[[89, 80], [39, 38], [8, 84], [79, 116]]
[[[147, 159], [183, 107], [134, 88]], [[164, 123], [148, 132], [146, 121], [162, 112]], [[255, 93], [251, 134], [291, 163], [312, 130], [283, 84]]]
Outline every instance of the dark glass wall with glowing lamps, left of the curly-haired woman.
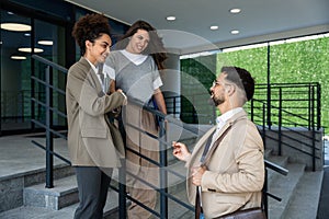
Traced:
[[[31, 123], [45, 120], [45, 108], [32, 102], [35, 97], [45, 102], [45, 87], [31, 79], [45, 79], [46, 66], [32, 59], [38, 55], [65, 68], [80, 58], [80, 51], [71, 37], [72, 26], [80, 16], [91, 13], [65, 1], [1, 1], [0, 16], [0, 136], [35, 131]], [[115, 43], [128, 26], [109, 19], [112, 39]], [[23, 28], [16, 30], [18, 24]], [[65, 90], [66, 74], [52, 71], [54, 87]], [[54, 108], [66, 112], [65, 95], [53, 93]], [[66, 127], [66, 118], [54, 114], [53, 125]]]

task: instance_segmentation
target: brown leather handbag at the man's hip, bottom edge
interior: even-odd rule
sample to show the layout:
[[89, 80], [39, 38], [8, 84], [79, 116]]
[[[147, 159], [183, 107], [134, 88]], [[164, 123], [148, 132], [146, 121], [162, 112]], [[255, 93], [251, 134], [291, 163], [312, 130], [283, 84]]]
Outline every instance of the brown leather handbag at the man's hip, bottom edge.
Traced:
[[262, 208], [249, 208], [243, 210], [237, 210], [235, 212], [220, 216], [217, 219], [266, 219], [266, 215]]

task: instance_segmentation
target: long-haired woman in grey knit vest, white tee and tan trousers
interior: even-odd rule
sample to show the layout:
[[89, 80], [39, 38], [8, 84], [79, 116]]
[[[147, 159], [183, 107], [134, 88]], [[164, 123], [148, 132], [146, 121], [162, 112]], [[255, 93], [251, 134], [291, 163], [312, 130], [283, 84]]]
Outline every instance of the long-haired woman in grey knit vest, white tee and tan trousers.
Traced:
[[[152, 102], [160, 112], [167, 114], [160, 90], [162, 81], [159, 70], [163, 69], [163, 61], [167, 58], [161, 38], [145, 21], [135, 22], [122, 38], [116, 44], [117, 50], [111, 53], [104, 66], [104, 72], [113, 79], [111, 91], [122, 89], [127, 94], [128, 101], [134, 99], [143, 104]], [[121, 125], [124, 127], [121, 130], [126, 135], [128, 149], [126, 150], [127, 192], [133, 198], [155, 209], [157, 192], [138, 178], [158, 187], [159, 169], [131, 150], [158, 161], [159, 141], [127, 124], [158, 136], [156, 118], [143, 108], [128, 104], [123, 110], [122, 122]], [[149, 211], [134, 201], [128, 207], [129, 219], [145, 219], [150, 216]]]

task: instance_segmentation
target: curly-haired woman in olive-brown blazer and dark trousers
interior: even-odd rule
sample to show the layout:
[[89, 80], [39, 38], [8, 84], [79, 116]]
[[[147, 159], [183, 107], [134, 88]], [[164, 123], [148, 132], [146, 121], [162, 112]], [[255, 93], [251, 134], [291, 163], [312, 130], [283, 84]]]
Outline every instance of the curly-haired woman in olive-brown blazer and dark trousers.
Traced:
[[101, 14], [82, 16], [73, 26], [81, 58], [67, 77], [68, 148], [76, 169], [80, 204], [75, 218], [101, 219], [113, 168], [121, 165], [124, 146], [107, 113], [126, 102], [117, 90], [106, 94], [101, 65], [110, 54], [109, 20]]

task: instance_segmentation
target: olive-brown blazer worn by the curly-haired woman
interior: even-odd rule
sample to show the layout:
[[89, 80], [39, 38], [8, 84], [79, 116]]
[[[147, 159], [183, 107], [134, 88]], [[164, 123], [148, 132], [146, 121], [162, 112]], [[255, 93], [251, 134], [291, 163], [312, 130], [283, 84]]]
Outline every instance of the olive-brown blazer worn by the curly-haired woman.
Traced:
[[120, 107], [125, 97], [105, 95], [86, 58], [70, 67], [66, 87], [68, 148], [72, 165], [120, 166], [124, 145], [106, 113]]

